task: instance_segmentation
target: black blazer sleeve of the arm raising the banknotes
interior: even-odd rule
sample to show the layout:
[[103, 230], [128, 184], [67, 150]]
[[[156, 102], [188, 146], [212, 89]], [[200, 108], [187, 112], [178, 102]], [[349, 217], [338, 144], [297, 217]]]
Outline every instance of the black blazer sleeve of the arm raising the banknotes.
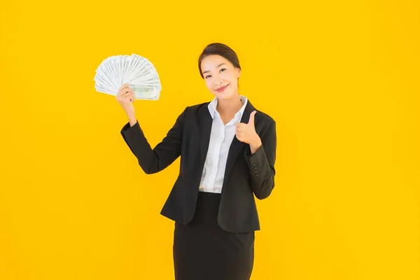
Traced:
[[122, 128], [120, 133], [125, 143], [136, 156], [141, 169], [146, 174], [162, 171], [181, 155], [183, 127], [187, 109], [188, 107], [176, 118], [172, 128], [155, 148], [151, 148], [138, 120], [132, 127], [130, 127], [130, 122], [128, 122]]

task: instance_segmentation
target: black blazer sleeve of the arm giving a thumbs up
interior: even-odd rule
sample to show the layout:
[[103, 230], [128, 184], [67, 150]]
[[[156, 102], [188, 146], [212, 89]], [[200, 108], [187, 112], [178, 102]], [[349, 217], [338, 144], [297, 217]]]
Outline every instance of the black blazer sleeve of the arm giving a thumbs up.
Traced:
[[273, 120], [261, 138], [262, 145], [251, 155], [246, 150], [245, 158], [251, 174], [251, 188], [259, 200], [267, 198], [274, 188], [274, 163], [276, 161], [276, 122]]

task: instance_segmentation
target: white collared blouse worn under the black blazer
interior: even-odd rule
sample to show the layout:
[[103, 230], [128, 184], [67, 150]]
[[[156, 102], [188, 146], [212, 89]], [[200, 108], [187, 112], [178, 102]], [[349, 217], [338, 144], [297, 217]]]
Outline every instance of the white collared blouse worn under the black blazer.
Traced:
[[230, 144], [235, 137], [235, 124], [241, 121], [248, 99], [241, 96], [242, 107], [226, 125], [223, 124], [221, 115], [216, 110], [218, 103], [215, 97], [209, 104], [209, 111], [213, 123], [211, 124], [211, 134], [209, 151], [207, 151], [206, 162], [200, 182], [199, 190], [206, 193], [221, 193], [223, 186], [223, 176], [225, 174], [226, 160]]

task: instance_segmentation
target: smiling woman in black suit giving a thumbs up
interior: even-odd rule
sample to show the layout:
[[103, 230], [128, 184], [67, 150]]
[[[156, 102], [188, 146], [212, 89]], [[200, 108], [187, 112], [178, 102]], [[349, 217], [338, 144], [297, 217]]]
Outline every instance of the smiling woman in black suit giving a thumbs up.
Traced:
[[207, 45], [198, 66], [211, 102], [186, 107], [151, 148], [134, 115], [134, 92], [122, 85], [116, 99], [129, 122], [120, 133], [146, 174], [181, 156], [161, 211], [175, 221], [175, 279], [248, 280], [260, 230], [254, 195], [265, 199], [274, 188], [276, 124], [239, 94], [241, 66], [227, 45]]

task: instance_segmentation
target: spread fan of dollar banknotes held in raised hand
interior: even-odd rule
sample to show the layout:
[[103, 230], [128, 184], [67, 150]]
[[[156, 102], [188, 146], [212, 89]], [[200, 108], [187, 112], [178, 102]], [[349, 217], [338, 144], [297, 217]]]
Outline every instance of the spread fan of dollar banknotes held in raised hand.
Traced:
[[113, 55], [99, 64], [94, 76], [97, 92], [116, 96], [121, 85], [128, 83], [134, 99], [158, 100], [162, 85], [155, 66], [146, 57], [132, 54]]

